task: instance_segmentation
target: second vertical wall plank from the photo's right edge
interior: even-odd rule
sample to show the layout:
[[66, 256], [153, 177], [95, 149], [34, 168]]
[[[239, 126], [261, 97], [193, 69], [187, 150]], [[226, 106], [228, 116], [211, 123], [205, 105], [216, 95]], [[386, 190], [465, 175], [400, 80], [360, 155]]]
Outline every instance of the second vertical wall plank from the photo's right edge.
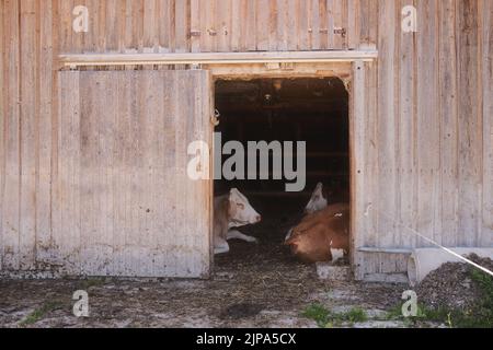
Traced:
[[482, 122], [478, 105], [478, 2], [458, 1], [459, 244], [474, 246], [480, 235]]

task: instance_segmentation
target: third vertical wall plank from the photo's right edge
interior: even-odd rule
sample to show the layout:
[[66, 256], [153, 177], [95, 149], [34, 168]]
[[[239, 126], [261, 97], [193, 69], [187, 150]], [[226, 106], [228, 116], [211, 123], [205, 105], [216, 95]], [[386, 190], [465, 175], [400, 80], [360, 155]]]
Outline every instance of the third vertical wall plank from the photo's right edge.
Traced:
[[456, 47], [456, 1], [440, 3], [439, 22], [439, 110], [442, 152], [442, 214], [443, 244], [454, 247], [458, 244], [459, 184], [457, 159], [457, 47]]

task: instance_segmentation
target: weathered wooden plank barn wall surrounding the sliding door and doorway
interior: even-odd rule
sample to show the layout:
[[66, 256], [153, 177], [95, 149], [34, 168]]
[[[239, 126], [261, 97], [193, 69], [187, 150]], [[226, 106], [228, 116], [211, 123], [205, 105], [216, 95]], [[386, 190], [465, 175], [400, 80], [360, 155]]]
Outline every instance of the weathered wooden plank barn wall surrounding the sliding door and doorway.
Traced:
[[[76, 4], [89, 8], [87, 34], [71, 31]], [[415, 34], [401, 32], [405, 4], [417, 8]], [[0, 10], [0, 269], [43, 269], [64, 234], [61, 52], [375, 45], [362, 244], [426, 246], [416, 230], [448, 246], [493, 245], [492, 1], [1, 0]], [[405, 270], [404, 255], [367, 253], [364, 261], [367, 273]]]

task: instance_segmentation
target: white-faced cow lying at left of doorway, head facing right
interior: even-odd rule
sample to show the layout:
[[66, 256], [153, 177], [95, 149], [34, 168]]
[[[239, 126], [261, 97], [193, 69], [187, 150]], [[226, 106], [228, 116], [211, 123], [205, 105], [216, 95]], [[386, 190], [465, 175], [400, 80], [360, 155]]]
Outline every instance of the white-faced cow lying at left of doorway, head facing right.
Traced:
[[254, 224], [262, 217], [252, 208], [246, 197], [237, 188], [232, 188], [228, 195], [214, 199], [214, 254], [229, 252], [227, 241], [238, 238], [256, 243], [256, 238], [248, 236], [232, 228]]

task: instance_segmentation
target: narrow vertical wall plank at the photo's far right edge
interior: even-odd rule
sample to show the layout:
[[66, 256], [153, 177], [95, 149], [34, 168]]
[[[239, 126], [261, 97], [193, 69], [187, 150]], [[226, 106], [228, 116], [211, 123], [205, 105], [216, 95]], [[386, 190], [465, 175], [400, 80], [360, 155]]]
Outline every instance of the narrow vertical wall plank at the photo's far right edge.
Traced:
[[483, 1], [482, 112], [483, 112], [483, 228], [481, 246], [493, 244], [493, 3]]

